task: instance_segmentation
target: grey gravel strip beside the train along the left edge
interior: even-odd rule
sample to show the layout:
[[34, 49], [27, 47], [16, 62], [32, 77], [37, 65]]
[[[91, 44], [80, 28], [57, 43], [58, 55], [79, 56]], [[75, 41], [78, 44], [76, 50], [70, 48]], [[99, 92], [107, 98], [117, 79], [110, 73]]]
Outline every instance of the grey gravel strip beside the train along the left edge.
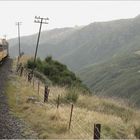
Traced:
[[7, 104], [4, 87], [11, 72], [11, 63], [12, 60], [8, 59], [0, 65], [0, 139], [35, 139], [34, 132], [28, 131], [28, 134], [25, 134], [24, 130], [27, 126], [11, 114]]

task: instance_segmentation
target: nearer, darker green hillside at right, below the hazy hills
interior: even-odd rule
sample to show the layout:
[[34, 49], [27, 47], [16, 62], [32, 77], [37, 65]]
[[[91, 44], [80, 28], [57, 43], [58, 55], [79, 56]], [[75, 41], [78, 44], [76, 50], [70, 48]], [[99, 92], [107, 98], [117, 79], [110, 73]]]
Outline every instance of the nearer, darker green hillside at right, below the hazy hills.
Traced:
[[140, 106], [140, 56], [134, 52], [80, 71], [82, 80], [95, 93], [128, 99]]

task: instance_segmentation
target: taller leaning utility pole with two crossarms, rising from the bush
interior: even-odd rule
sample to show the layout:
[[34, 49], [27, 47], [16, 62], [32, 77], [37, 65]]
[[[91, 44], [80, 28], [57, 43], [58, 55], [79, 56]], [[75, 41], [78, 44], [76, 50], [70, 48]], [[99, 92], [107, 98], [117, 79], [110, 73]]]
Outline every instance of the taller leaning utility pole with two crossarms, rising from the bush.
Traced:
[[40, 16], [39, 17], [35, 16], [34, 22], [35, 23], [40, 23], [40, 27], [39, 27], [39, 33], [38, 33], [38, 38], [37, 38], [35, 56], [34, 56], [34, 67], [33, 67], [33, 70], [35, 68], [35, 62], [36, 62], [36, 56], [37, 56], [37, 51], [38, 51], [38, 45], [39, 45], [39, 39], [40, 39], [42, 24], [48, 24], [47, 20], [49, 20], [49, 18], [41, 18]]

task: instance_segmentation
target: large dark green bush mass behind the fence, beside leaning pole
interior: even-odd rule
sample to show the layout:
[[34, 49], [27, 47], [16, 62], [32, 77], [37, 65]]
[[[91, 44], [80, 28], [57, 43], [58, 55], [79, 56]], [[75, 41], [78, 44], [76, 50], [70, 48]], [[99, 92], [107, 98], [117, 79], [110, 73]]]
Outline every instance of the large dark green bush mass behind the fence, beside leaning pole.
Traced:
[[[81, 80], [76, 75], [68, 70], [67, 66], [52, 59], [51, 56], [46, 57], [44, 61], [37, 58], [36, 63], [33, 59], [27, 62], [27, 68], [36, 68], [37, 71], [43, 73], [53, 84], [61, 86], [83, 86]], [[42, 78], [42, 76], [41, 76]], [[42, 78], [45, 79], [44, 77]], [[84, 87], [84, 86], [83, 86]]]

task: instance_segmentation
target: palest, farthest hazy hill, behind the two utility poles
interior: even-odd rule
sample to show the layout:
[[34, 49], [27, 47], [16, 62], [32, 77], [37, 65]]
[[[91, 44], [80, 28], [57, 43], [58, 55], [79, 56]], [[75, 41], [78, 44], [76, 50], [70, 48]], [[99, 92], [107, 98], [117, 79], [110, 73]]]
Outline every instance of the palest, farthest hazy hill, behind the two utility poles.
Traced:
[[[50, 31], [42, 31], [38, 56], [45, 58], [48, 54], [52, 56], [57, 56], [55, 51], [57, 44], [64, 40], [69, 35], [73, 34], [78, 28], [62, 28], [62, 29], [53, 29]], [[21, 49], [25, 54], [34, 55], [37, 35], [23, 36], [21, 37]], [[10, 39], [10, 55], [18, 55], [18, 40], [17, 38]], [[59, 56], [59, 55], [58, 55]]]

